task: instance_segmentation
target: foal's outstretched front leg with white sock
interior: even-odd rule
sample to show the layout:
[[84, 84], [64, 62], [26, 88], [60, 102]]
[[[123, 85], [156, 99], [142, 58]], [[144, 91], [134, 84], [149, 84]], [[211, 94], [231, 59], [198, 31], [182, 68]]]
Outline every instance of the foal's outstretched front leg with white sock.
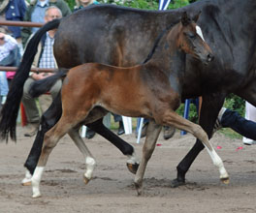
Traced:
[[220, 172], [220, 180], [223, 183], [229, 183], [229, 175], [223, 165], [221, 158], [217, 155], [212, 145], [208, 141], [207, 133], [202, 129], [201, 126], [190, 122], [176, 114], [175, 111], [167, 112], [163, 116], [164, 125], [173, 125], [177, 129], [184, 130], [188, 133], [193, 134], [195, 137], [200, 139], [208, 150], [208, 154], [213, 162], [213, 165], [218, 167]]

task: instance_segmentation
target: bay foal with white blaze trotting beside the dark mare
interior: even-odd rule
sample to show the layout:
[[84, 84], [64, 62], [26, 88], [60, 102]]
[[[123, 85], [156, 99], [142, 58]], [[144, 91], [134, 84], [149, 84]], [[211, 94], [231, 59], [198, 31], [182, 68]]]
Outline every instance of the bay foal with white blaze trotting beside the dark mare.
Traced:
[[67, 75], [59, 72], [58, 76], [66, 76], [62, 87], [63, 113], [45, 136], [39, 163], [32, 176], [33, 198], [41, 196], [39, 185], [50, 151], [67, 133], [84, 155], [85, 183], [91, 179], [95, 160], [76, 130], [81, 124], [93, 122], [108, 111], [150, 119], [142, 162], [135, 176], [139, 195], [142, 193], [146, 164], [163, 125], [173, 125], [199, 138], [206, 146], [213, 164], [218, 167], [220, 179], [228, 182], [228, 173], [209, 143], [207, 134], [199, 125], [175, 112], [180, 104], [186, 54], [206, 64], [213, 59], [199, 26], [184, 13], [180, 22], [163, 34], [150, 59], [143, 65], [117, 68], [87, 63], [69, 70]]

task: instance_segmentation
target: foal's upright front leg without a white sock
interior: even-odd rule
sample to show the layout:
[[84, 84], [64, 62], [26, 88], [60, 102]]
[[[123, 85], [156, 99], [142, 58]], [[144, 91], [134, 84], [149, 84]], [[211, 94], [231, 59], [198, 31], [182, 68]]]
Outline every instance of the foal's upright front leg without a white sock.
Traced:
[[144, 141], [142, 162], [136, 172], [135, 179], [134, 179], [134, 183], [135, 183], [135, 187], [137, 189], [138, 196], [142, 195], [145, 167], [154, 151], [155, 143], [156, 143], [157, 138], [159, 137], [161, 129], [162, 129], [162, 126], [157, 125], [154, 122], [154, 120], [149, 121], [147, 131], [146, 131], [146, 137], [145, 137], [145, 141]]

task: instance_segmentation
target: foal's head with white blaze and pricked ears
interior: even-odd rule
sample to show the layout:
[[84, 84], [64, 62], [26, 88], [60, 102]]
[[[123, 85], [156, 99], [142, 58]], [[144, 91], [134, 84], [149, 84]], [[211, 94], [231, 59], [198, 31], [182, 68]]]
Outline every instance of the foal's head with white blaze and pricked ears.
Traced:
[[213, 60], [214, 56], [205, 42], [201, 28], [196, 24], [199, 15], [191, 19], [186, 12], [183, 13], [178, 28], [177, 46], [187, 54], [191, 54], [202, 62], [208, 63]]

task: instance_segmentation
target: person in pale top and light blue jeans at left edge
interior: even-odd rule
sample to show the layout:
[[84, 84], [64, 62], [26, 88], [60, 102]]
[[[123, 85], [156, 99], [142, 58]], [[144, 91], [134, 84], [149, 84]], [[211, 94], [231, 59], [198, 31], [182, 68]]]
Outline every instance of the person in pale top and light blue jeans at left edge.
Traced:
[[[5, 28], [0, 28], [0, 66], [11, 65], [12, 52], [17, 48], [16, 40], [6, 34]], [[15, 60], [15, 58], [13, 57]], [[0, 104], [3, 105], [9, 92], [8, 81], [5, 72], [0, 72]]]

